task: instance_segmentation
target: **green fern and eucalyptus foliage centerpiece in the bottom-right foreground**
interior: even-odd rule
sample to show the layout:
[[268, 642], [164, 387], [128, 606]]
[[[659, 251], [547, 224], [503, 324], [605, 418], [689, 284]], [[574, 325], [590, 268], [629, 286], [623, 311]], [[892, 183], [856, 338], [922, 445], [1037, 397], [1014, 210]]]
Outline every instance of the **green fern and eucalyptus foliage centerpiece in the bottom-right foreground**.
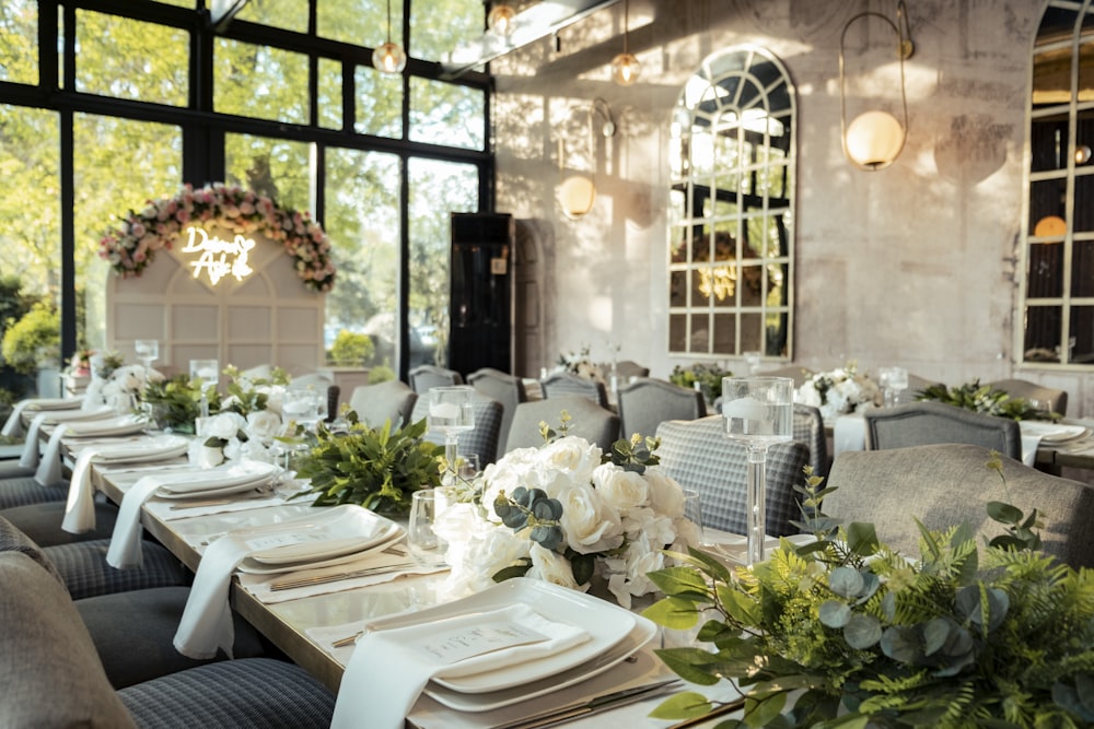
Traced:
[[[989, 466], [998, 466], [996, 459]], [[1004, 533], [985, 546], [965, 526], [920, 526], [909, 561], [873, 526], [821, 512], [819, 479], [802, 522], [816, 542], [783, 541], [770, 558], [731, 569], [699, 551], [650, 575], [666, 595], [645, 614], [701, 625], [709, 646], [660, 657], [700, 685], [730, 679], [744, 721], [779, 727], [1090, 727], [1094, 722], [1094, 572], [1037, 551], [1038, 515], [999, 502]], [[793, 701], [789, 701], [791, 695]], [[715, 703], [717, 704], [717, 703]], [[653, 716], [683, 719], [715, 706], [676, 695]]]

